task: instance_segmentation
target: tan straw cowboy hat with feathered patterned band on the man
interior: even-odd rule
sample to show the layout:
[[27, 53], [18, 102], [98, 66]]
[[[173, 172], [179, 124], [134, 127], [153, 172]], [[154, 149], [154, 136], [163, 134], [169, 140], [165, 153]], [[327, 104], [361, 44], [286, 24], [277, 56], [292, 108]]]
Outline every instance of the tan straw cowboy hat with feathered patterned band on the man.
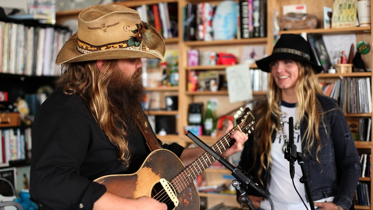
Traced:
[[164, 40], [136, 10], [113, 4], [87, 7], [78, 15], [78, 32], [62, 46], [56, 64], [81, 61], [163, 59]]

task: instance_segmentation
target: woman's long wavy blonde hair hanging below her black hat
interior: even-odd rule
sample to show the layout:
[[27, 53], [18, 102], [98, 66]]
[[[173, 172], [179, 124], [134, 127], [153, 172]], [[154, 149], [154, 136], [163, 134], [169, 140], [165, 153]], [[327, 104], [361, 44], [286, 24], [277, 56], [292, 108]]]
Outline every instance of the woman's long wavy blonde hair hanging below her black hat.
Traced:
[[[302, 142], [305, 141], [304, 152], [310, 153], [310, 148], [317, 143], [316, 160], [319, 161], [317, 154], [321, 149], [321, 141], [319, 136], [318, 127], [320, 120], [322, 121], [323, 115], [320, 113], [320, 104], [316, 98], [316, 93], [322, 94], [322, 89], [316, 78], [316, 74], [313, 72], [311, 65], [301, 63], [296, 61], [299, 69], [299, 78], [295, 84], [295, 95], [297, 96], [297, 116], [295, 122], [300, 123], [303, 119], [308, 122], [308, 127], [305, 130], [304, 138]], [[272, 68], [272, 66], [270, 67]], [[258, 103], [256, 107], [253, 108], [253, 112], [257, 117], [257, 122], [255, 127], [260, 129], [260, 132], [255, 132], [254, 134], [254, 163], [256, 158], [260, 158], [261, 167], [258, 170], [258, 177], [264, 170], [268, 170], [271, 164], [270, 150], [272, 146], [272, 134], [273, 132], [278, 132], [280, 125], [279, 121], [279, 106], [278, 102], [281, 100], [281, 89], [276, 85], [275, 79], [271, 77], [268, 81], [268, 92], [267, 98], [263, 103]], [[305, 118], [307, 114], [307, 118]], [[272, 115], [275, 115], [277, 122], [273, 122]], [[314, 142], [314, 139], [317, 142]], [[265, 164], [265, 160], [267, 164]], [[263, 180], [261, 180], [263, 182]]]

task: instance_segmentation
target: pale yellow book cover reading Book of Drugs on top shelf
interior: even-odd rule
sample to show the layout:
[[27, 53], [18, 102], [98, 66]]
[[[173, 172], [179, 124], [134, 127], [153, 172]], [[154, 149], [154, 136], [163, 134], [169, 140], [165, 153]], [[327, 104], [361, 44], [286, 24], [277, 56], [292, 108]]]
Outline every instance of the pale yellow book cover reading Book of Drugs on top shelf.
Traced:
[[357, 0], [335, 0], [333, 4], [332, 28], [355, 27]]

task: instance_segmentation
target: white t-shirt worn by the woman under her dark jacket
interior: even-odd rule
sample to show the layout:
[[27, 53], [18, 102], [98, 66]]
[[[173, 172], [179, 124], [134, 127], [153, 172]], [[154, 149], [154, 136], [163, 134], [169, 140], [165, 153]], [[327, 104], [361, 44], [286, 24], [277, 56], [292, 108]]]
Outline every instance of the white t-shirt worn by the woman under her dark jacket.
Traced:
[[[285, 106], [284, 106], [285, 105]], [[281, 111], [282, 121], [284, 124], [285, 135], [289, 139], [289, 117], [293, 117], [293, 123], [296, 123], [296, 108], [295, 104], [287, 104], [282, 102]], [[297, 146], [297, 152], [302, 151], [301, 147], [301, 136], [300, 129], [294, 130], [294, 144]], [[294, 125], [295, 128], [295, 125]], [[273, 206], [275, 210], [305, 210], [305, 206], [294, 189], [292, 179], [289, 172], [289, 161], [285, 159], [284, 151], [284, 138], [282, 136], [282, 130], [276, 134], [275, 142], [272, 142], [271, 148], [271, 158], [272, 158], [272, 170], [270, 171], [270, 180], [268, 183], [269, 196], [273, 201]], [[307, 208], [310, 209], [310, 205], [306, 200], [305, 186], [299, 180], [303, 176], [300, 165], [295, 161], [295, 175], [294, 184], [297, 188], [299, 194], [301, 195], [303, 201], [307, 204]], [[330, 200], [331, 199], [331, 200]], [[314, 202], [325, 202], [332, 201], [333, 198], [328, 200], [322, 199]], [[262, 201], [260, 208], [265, 210], [271, 210], [271, 206], [268, 200]]]

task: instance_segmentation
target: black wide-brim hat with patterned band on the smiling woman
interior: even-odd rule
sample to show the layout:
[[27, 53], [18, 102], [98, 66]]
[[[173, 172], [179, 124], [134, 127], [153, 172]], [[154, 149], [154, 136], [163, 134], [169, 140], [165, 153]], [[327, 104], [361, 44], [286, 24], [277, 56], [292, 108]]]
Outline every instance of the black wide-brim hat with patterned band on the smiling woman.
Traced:
[[282, 34], [275, 47], [273, 47], [272, 55], [256, 61], [256, 64], [262, 71], [270, 72], [270, 63], [278, 59], [289, 59], [311, 64], [316, 74], [323, 71], [322, 66], [311, 61], [310, 46], [298, 34]]

